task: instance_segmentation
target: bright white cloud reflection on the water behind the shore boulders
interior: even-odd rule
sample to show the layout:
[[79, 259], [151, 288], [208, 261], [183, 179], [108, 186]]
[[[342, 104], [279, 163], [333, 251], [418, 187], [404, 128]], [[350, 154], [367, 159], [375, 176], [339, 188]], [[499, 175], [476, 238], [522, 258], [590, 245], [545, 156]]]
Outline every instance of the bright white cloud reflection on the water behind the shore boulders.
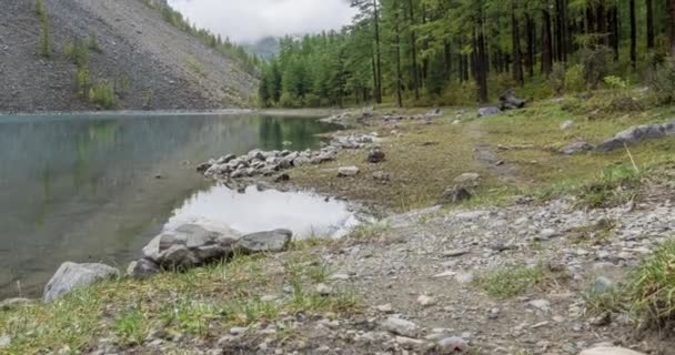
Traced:
[[224, 185], [198, 192], [174, 211], [165, 227], [209, 220], [242, 233], [289, 229], [296, 237], [341, 236], [356, 219], [344, 202], [308, 192], [259, 191], [249, 186], [238, 193]]

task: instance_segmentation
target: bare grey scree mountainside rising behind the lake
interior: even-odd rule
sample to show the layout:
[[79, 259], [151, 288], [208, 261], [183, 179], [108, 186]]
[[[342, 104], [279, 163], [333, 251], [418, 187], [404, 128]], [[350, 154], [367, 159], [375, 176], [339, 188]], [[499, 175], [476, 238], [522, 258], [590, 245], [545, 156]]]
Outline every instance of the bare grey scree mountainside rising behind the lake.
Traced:
[[49, 59], [38, 54], [42, 24], [36, 2], [1, 6], [0, 112], [98, 109], [78, 95], [77, 68], [63, 53], [75, 38], [97, 38], [90, 77], [123, 88], [115, 89], [115, 109], [238, 108], [258, 84], [234, 59], [172, 27], [141, 0], [44, 0]]

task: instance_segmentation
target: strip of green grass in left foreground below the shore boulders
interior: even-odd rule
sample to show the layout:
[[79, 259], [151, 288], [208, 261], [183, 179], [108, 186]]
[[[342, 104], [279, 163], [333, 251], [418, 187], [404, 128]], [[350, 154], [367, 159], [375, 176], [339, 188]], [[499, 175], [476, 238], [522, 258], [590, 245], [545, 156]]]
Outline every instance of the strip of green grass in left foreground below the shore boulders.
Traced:
[[[361, 301], [349, 290], [334, 290], [329, 296], [314, 292], [329, 273], [311, 250], [291, 252], [284, 264], [240, 255], [230, 263], [143, 281], [108, 281], [54, 303], [0, 311], [0, 334], [12, 339], [4, 349], [8, 354], [49, 353], [63, 346], [77, 353], [101, 337], [134, 346], [158, 331], [211, 337], [281, 315], [360, 312]], [[293, 288], [285, 296], [284, 284]], [[280, 298], [260, 301], [264, 295]]]

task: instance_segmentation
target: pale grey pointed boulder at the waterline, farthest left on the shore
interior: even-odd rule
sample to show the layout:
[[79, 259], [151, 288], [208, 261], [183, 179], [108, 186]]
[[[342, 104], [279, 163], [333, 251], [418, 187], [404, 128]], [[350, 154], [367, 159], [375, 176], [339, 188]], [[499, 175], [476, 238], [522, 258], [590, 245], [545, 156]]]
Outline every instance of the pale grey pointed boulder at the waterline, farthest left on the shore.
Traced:
[[119, 276], [120, 272], [103, 264], [77, 264], [67, 262], [61, 264], [57, 273], [44, 287], [42, 298], [52, 302], [75, 288], [88, 286], [94, 282]]

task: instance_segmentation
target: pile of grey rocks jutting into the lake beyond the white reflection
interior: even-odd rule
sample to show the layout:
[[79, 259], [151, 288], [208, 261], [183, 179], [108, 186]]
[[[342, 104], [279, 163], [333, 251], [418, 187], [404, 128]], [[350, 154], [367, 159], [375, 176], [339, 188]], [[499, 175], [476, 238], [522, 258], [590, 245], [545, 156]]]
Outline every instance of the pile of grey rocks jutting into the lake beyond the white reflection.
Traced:
[[269, 176], [281, 182], [289, 178], [288, 174], [282, 173], [284, 170], [306, 164], [332, 162], [338, 159], [338, 152], [342, 149], [360, 149], [377, 140], [376, 136], [370, 134], [350, 134], [334, 138], [329, 145], [318, 151], [252, 150], [240, 156], [229, 154], [220, 159], [212, 159], [199, 164], [197, 171], [206, 178], [219, 180]]

